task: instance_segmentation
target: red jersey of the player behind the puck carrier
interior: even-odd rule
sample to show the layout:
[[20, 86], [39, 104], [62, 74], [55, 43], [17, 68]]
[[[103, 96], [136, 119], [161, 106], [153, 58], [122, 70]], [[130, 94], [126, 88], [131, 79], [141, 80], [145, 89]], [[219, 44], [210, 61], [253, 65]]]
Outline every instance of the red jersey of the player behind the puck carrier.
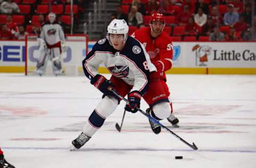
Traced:
[[157, 38], [153, 38], [150, 31], [150, 27], [140, 28], [131, 36], [145, 46], [152, 63], [160, 62], [163, 65], [163, 79], [166, 80], [165, 71], [172, 67], [172, 39], [164, 31]]

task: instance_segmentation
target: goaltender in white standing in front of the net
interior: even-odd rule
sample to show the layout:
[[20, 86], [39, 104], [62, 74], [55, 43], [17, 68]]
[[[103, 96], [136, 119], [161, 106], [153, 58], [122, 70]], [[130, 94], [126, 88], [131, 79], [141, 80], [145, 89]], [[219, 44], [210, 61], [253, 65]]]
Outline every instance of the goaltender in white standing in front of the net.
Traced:
[[60, 75], [62, 73], [61, 44], [66, 44], [63, 30], [55, 20], [56, 15], [49, 13], [49, 22], [42, 26], [39, 41], [39, 58], [36, 65], [36, 73], [42, 75], [45, 73], [48, 60], [52, 62], [53, 73]]

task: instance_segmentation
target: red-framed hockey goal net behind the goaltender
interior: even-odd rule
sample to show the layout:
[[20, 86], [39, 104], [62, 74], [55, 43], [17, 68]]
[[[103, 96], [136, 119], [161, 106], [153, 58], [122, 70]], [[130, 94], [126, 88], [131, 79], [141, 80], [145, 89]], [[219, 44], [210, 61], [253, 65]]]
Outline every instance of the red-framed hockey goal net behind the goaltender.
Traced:
[[[62, 75], [83, 74], [82, 61], [88, 50], [86, 35], [66, 35], [67, 51], [61, 54]], [[36, 35], [26, 36], [26, 75], [37, 75], [36, 64], [39, 57], [39, 42]], [[52, 62], [48, 60], [45, 75], [53, 75]]]

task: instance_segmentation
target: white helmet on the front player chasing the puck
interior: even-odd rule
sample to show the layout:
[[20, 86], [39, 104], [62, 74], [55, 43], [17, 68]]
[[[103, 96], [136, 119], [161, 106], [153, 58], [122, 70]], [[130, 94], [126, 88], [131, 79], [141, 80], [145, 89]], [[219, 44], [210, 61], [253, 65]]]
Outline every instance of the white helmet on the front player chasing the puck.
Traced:
[[[127, 25], [126, 21], [124, 19], [114, 19], [111, 21], [108, 25], [107, 28], [107, 39], [110, 43], [109, 40], [109, 34], [123, 34], [124, 35], [124, 43], [128, 38], [128, 31], [129, 31], [129, 26]], [[111, 43], [110, 43], [111, 45]]]

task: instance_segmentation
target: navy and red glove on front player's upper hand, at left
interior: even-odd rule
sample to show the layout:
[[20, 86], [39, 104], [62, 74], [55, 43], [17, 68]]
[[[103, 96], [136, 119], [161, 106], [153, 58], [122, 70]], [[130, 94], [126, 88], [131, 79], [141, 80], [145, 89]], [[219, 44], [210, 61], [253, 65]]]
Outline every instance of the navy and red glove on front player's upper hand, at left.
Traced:
[[95, 75], [95, 77], [91, 80], [91, 84], [94, 85], [97, 89], [99, 89], [103, 94], [114, 96], [110, 88], [114, 88], [115, 85], [102, 75]]

